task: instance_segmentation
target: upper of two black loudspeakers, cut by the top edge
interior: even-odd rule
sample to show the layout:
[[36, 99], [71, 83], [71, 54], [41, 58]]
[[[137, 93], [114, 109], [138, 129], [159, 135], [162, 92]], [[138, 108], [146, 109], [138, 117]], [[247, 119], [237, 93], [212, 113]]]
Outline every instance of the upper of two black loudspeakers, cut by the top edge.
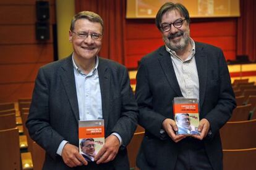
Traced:
[[49, 2], [36, 1], [36, 18], [40, 21], [49, 19]]

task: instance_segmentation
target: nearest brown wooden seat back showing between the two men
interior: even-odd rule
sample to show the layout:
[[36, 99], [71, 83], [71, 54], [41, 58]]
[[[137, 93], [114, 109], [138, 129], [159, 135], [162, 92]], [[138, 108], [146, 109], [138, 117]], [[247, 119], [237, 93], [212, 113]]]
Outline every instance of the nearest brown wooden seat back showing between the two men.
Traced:
[[136, 156], [139, 152], [144, 133], [145, 132], [135, 133], [132, 140], [130, 140], [130, 144], [127, 146], [130, 168], [135, 168], [136, 166]]

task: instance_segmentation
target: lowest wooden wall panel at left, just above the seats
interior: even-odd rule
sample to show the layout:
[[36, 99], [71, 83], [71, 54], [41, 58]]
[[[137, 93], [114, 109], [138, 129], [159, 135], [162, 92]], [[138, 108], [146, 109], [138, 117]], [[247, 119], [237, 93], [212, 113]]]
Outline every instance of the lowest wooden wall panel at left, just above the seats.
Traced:
[[0, 84], [0, 102], [16, 102], [17, 99], [31, 98], [34, 82]]

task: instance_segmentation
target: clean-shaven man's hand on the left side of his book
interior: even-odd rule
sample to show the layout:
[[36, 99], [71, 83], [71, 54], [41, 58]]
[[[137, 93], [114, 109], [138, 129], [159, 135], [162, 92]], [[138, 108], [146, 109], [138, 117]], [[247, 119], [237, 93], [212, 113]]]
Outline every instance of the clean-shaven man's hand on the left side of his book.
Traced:
[[82, 164], [88, 164], [85, 158], [83, 158], [83, 156], [79, 153], [79, 148], [69, 143], [64, 145], [61, 156], [64, 163], [66, 163], [70, 168], [81, 166]]

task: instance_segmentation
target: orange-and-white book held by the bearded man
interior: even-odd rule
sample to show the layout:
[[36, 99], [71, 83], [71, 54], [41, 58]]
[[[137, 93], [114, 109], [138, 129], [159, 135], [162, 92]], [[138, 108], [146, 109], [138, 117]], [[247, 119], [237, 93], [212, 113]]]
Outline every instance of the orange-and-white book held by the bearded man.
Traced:
[[186, 99], [184, 97], [174, 97], [173, 113], [174, 121], [177, 124], [177, 135], [200, 135], [198, 131], [199, 112], [198, 100]]

